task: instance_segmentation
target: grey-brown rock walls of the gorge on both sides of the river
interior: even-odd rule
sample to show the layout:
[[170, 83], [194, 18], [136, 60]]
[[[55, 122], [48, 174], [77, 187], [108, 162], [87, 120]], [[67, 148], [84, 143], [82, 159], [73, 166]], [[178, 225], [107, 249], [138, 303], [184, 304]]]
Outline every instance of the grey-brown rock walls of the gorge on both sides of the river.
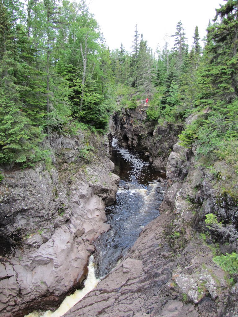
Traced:
[[[157, 195], [165, 190], [162, 204], [155, 208], [160, 215], [144, 228], [145, 223], [137, 223], [142, 231], [129, 253], [119, 255], [116, 268], [109, 273], [110, 267], [97, 287], [64, 316], [235, 316], [238, 285], [230, 286], [226, 273], [212, 261], [211, 238], [201, 235], [202, 218], [209, 209], [237, 221], [232, 197], [214, 188], [215, 178], [204, 167], [194, 168], [193, 152], [177, 144], [176, 131], [181, 127], [157, 126], [151, 134], [145, 128], [143, 108], [123, 110], [120, 120], [116, 118], [118, 142], [128, 140], [130, 147], [133, 137], [131, 144], [149, 156], [158, 171], [166, 166], [168, 187], [165, 190], [159, 178]], [[85, 143], [94, 149], [89, 151], [92, 161], [82, 164]], [[81, 132], [74, 138], [53, 135], [50, 144], [57, 169], [4, 171], [1, 234], [8, 246], [1, 257], [4, 317], [57, 307], [82, 285], [95, 239], [109, 230], [104, 208], [114, 203], [119, 178], [111, 172], [107, 138], [99, 141]], [[141, 162], [137, 166], [141, 170]], [[136, 191], [138, 185], [132, 185]], [[124, 181], [120, 187], [129, 193], [132, 185]], [[223, 248], [232, 251], [235, 243]]]

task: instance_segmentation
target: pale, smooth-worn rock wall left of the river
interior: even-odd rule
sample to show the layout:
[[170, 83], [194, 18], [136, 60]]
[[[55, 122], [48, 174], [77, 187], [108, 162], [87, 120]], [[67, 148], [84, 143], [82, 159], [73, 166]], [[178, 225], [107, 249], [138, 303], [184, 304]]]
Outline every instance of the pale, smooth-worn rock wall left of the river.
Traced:
[[89, 140], [91, 164], [80, 162], [83, 134], [52, 135], [55, 168], [3, 171], [1, 183], [1, 316], [57, 306], [87, 275], [93, 241], [109, 229], [105, 206], [119, 178], [105, 139]]

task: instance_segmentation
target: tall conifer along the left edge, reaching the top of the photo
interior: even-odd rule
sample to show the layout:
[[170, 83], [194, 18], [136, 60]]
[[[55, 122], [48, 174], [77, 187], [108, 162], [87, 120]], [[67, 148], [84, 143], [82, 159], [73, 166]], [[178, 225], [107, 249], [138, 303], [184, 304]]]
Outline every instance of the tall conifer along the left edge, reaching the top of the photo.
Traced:
[[[24, 95], [29, 87], [30, 55], [27, 33], [22, 21], [23, 3], [0, 2], [0, 163], [23, 163], [29, 166], [41, 159], [38, 144], [44, 135], [28, 118]], [[29, 53], [29, 54], [27, 54]]]

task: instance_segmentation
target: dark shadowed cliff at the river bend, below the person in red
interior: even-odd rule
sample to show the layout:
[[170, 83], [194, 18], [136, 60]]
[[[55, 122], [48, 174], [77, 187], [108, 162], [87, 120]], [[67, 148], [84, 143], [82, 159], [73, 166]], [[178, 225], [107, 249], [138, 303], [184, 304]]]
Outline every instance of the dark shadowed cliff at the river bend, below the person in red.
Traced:
[[174, 144], [178, 141], [182, 124], [165, 123], [156, 126], [147, 121], [147, 107], [136, 109], [123, 108], [116, 114], [115, 136], [122, 146], [128, 146], [137, 152], [144, 152], [153, 161], [155, 171], [166, 173], [166, 164]]

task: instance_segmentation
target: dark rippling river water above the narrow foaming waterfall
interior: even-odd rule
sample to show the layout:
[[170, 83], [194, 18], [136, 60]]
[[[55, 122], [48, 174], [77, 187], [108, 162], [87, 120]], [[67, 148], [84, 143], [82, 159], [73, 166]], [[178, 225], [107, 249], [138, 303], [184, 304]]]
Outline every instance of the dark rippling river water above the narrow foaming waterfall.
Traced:
[[135, 243], [143, 227], [159, 215], [166, 182], [142, 155], [122, 148], [113, 140], [111, 160], [120, 176], [116, 203], [106, 208], [110, 230], [96, 241], [96, 276], [108, 274]]

